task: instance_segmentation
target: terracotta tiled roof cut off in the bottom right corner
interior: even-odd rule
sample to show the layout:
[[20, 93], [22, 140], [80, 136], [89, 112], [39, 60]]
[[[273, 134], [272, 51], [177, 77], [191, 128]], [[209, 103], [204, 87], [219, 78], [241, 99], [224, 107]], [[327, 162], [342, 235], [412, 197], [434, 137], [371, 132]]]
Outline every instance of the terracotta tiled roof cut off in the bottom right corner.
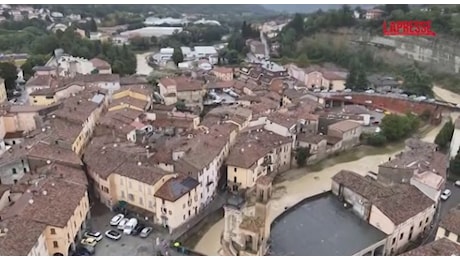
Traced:
[[447, 238], [435, 240], [426, 245], [412, 249], [401, 256], [458, 256], [460, 255], [460, 245]]

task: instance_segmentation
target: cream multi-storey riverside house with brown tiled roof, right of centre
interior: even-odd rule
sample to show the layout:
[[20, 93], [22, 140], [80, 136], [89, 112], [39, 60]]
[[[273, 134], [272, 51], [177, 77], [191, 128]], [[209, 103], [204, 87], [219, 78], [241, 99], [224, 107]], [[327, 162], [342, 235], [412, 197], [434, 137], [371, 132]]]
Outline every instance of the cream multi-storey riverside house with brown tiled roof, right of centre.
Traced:
[[291, 167], [292, 139], [263, 128], [240, 133], [226, 160], [228, 186], [237, 191], [254, 187], [261, 176]]

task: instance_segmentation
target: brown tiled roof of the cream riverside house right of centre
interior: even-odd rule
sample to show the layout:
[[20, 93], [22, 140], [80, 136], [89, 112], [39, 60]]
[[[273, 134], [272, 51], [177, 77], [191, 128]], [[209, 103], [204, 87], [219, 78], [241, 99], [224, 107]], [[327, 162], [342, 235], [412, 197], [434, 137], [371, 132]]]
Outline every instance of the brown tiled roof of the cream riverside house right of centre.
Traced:
[[226, 163], [248, 169], [273, 149], [290, 142], [291, 138], [263, 129], [240, 133]]

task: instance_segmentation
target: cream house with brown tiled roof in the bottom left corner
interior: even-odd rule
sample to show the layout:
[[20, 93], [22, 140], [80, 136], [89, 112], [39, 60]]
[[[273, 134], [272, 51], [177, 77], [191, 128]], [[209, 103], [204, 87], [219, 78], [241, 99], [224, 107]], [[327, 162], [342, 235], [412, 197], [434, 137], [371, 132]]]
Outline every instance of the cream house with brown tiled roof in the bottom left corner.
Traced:
[[33, 179], [32, 175], [36, 184], [13, 186], [14, 204], [0, 211], [0, 252], [7, 256], [70, 255], [89, 219], [85, 173], [54, 163], [35, 172], [45, 177]]

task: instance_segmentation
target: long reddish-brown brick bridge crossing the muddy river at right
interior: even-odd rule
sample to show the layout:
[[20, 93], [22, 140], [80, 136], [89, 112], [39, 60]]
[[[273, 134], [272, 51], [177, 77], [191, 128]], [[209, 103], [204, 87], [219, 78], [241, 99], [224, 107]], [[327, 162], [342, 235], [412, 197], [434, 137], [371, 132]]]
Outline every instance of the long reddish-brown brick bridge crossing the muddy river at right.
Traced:
[[457, 104], [436, 100], [417, 101], [392, 94], [368, 93], [327, 93], [319, 98], [326, 107], [340, 107], [348, 104], [363, 105], [371, 109], [381, 109], [394, 113], [413, 112], [417, 115], [431, 115], [433, 123], [440, 122], [442, 115], [460, 111]]

